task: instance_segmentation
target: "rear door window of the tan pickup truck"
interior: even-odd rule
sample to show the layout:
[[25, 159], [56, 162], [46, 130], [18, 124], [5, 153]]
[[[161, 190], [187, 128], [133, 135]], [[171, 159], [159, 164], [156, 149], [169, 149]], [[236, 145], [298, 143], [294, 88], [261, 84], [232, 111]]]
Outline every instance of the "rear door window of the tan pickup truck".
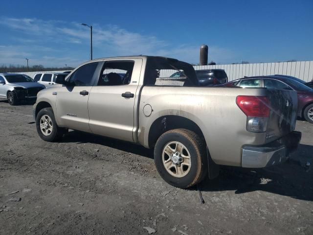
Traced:
[[134, 61], [109, 61], [104, 64], [98, 86], [120, 86], [131, 82]]

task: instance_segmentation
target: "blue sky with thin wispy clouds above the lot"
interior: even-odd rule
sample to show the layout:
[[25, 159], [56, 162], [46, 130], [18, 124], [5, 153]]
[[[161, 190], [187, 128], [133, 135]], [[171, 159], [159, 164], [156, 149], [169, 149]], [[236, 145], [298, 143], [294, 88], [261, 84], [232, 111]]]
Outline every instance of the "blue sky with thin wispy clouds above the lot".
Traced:
[[2, 0], [0, 64], [76, 67], [90, 58], [160, 55], [209, 61], [313, 60], [313, 0]]

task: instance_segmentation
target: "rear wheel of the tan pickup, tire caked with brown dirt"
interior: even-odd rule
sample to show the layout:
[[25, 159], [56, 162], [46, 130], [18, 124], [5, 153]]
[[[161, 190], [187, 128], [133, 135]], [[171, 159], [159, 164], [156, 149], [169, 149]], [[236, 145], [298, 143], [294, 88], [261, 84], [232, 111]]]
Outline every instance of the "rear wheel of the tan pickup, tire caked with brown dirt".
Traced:
[[160, 176], [177, 188], [197, 185], [207, 175], [205, 142], [190, 130], [174, 129], [162, 134], [156, 141], [154, 159]]

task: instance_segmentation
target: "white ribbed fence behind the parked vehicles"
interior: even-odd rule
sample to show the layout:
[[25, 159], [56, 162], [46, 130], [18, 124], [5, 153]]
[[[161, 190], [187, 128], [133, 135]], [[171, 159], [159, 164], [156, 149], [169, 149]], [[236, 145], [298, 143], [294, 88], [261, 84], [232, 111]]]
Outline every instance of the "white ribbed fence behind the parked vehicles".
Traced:
[[[313, 61], [297, 62], [277, 62], [277, 63], [256, 63], [256, 64], [237, 64], [237, 65], [203, 65], [194, 66], [195, 70], [223, 69], [226, 71], [229, 81], [242, 78], [244, 76], [259, 76], [282, 74], [300, 78], [306, 82], [313, 79]], [[47, 72], [47, 71], [45, 71]], [[48, 71], [63, 72], [63, 71]], [[169, 77], [175, 70], [162, 71], [160, 77]], [[31, 77], [36, 73], [43, 72], [23, 72]]]

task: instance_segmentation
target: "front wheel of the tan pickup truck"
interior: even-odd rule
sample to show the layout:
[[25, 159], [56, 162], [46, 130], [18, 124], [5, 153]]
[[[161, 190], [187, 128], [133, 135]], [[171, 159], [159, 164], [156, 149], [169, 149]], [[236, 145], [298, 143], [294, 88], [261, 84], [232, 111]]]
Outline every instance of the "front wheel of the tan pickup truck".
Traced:
[[36, 128], [40, 138], [48, 142], [60, 140], [68, 131], [58, 127], [52, 108], [44, 108], [39, 111], [36, 117]]

